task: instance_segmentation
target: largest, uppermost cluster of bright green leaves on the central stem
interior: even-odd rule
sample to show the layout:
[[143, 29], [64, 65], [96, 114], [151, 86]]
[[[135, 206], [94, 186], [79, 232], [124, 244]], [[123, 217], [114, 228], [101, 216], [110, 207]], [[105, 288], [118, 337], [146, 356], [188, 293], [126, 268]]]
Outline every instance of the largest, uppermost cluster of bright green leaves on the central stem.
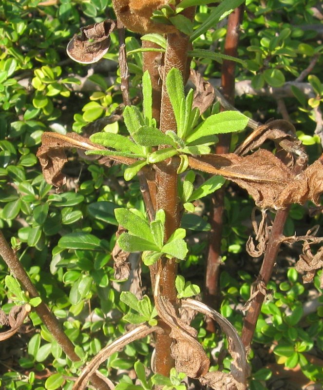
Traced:
[[[138, 159], [124, 173], [131, 180], [147, 164], [154, 164], [175, 155], [181, 157], [178, 173], [188, 167], [187, 155], [207, 155], [210, 145], [218, 141], [216, 134], [242, 131], [248, 117], [238, 111], [225, 111], [209, 116], [197, 125], [200, 112], [193, 108], [194, 91], [185, 97], [183, 78], [178, 69], [171, 69], [166, 78], [166, 87], [174, 111], [177, 129], [165, 134], [156, 128], [152, 117], [152, 83], [148, 71], [143, 76], [143, 115], [136, 106], [127, 106], [123, 117], [131, 138], [114, 133], [93, 134], [91, 141], [112, 150], [89, 151], [86, 154], [123, 156]], [[164, 146], [153, 151], [153, 147]], [[166, 147], [165, 147], [166, 146]]]

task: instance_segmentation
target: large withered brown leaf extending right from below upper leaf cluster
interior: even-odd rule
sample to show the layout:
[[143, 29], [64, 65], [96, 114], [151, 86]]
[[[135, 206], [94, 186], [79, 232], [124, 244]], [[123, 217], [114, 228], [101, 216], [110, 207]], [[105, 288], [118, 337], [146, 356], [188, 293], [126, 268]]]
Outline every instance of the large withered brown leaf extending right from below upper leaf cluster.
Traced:
[[235, 154], [189, 156], [189, 164], [222, 175], [247, 190], [260, 208], [282, 209], [292, 203], [319, 203], [323, 193], [323, 160], [320, 157], [299, 175], [272, 153], [259, 149], [241, 157]]

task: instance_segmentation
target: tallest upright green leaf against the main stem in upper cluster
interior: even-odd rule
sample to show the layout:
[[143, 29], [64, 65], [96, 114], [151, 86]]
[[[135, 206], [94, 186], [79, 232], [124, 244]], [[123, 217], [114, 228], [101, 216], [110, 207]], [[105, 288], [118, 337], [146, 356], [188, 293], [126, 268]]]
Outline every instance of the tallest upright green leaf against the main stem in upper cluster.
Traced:
[[166, 88], [171, 100], [171, 106], [174, 111], [177, 123], [177, 132], [179, 137], [181, 137], [179, 129], [181, 129], [181, 124], [184, 122], [185, 112], [183, 109], [184, 107], [182, 106], [185, 101], [185, 95], [183, 77], [178, 69], [172, 68], [168, 72], [166, 76]]

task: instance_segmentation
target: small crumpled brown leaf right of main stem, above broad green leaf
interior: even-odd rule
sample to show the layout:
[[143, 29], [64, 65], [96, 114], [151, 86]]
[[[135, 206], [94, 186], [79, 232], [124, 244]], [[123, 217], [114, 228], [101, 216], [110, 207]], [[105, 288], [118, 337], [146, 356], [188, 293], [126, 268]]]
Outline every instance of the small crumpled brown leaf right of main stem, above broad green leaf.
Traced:
[[193, 108], [197, 107], [202, 115], [214, 101], [214, 88], [194, 69], [190, 69], [190, 81], [195, 85]]

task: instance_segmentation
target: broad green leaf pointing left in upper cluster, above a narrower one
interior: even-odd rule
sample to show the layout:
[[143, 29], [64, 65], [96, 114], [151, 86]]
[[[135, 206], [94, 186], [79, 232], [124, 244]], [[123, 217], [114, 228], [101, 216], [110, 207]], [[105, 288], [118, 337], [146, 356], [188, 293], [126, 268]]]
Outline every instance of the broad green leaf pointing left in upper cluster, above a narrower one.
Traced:
[[103, 145], [107, 148], [113, 148], [120, 152], [134, 153], [137, 155], [143, 155], [143, 150], [140, 146], [136, 145], [128, 137], [121, 136], [114, 133], [95, 133], [90, 137], [90, 140], [99, 145]]

